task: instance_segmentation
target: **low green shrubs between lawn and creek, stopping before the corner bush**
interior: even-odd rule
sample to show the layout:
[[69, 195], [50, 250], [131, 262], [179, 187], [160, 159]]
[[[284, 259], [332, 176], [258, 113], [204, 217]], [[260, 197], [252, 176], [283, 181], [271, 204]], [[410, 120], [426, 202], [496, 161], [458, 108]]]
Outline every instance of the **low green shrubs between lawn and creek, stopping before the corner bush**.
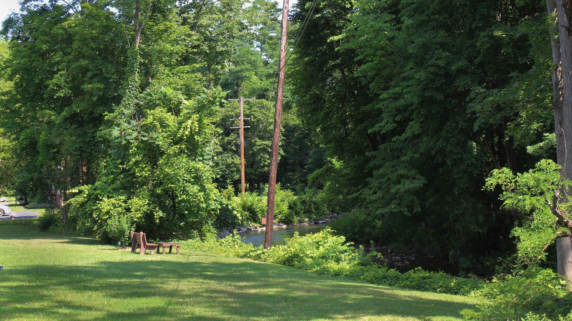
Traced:
[[283, 264], [328, 276], [422, 291], [468, 295], [486, 284], [476, 278], [459, 278], [443, 272], [427, 272], [418, 268], [400, 273], [391, 268], [371, 264], [371, 257], [378, 255], [376, 252], [365, 255], [363, 248], [355, 248], [351, 243], [345, 243], [344, 236], [333, 235], [329, 227], [315, 234], [295, 235], [286, 240], [285, 245], [274, 246], [268, 250], [261, 246], [245, 244], [237, 234], [205, 242], [183, 241], [181, 247]]

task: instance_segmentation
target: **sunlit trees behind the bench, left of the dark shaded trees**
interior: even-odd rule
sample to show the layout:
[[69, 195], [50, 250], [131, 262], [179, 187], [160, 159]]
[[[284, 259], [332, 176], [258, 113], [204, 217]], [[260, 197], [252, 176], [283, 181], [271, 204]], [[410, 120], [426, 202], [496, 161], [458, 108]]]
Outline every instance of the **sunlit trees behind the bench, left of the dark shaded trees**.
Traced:
[[[133, 229], [169, 239], [260, 223], [261, 198], [235, 200], [229, 119], [239, 104], [227, 99], [257, 98], [245, 103], [256, 196], [268, 180], [280, 10], [266, 0], [147, 3], [139, 20], [134, 1], [26, 1], [6, 19], [0, 194], [46, 203], [59, 190], [62, 221], [113, 242]], [[285, 111], [281, 180], [303, 191], [323, 155], [288, 93]], [[277, 219], [295, 222], [292, 192], [278, 199]]]

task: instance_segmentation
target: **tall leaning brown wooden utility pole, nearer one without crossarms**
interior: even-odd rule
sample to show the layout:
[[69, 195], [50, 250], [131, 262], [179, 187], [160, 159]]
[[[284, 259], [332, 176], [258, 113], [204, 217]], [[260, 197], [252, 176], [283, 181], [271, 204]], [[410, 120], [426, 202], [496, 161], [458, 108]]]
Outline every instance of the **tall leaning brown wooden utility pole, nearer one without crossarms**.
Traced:
[[270, 175], [268, 178], [268, 205], [266, 208], [266, 232], [264, 248], [272, 246], [274, 227], [274, 200], [276, 196], [276, 170], [278, 167], [278, 144], [280, 141], [280, 122], [282, 120], [282, 98], [284, 94], [284, 66], [286, 65], [286, 33], [288, 29], [288, 0], [282, 3], [282, 31], [280, 34], [280, 58], [278, 61], [278, 85], [276, 90], [276, 111], [274, 113], [274, 135], [270, 154]]

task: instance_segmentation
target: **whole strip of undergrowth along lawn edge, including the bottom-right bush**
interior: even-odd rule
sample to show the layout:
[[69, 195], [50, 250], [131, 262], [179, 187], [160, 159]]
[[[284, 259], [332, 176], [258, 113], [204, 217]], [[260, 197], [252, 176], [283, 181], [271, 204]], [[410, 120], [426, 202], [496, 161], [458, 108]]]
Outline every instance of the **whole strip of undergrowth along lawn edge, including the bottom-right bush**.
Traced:
[[245, 244], [238, 234], [223, 239], [181, 241], [182, 248], [220, 255], [282, 264], [321, 275], [358, 280], [411, 290], [475, 296], [482, 299], [478, 310], [463, 310], [465, 320], [549, 321], [572, 320], [572, 301], [562, 278], [550, 269], [529, 268], [503, 275], [491, 282], [459, 277], [422, 268], [399, 272], [372, 262], [377, 252], [345, 243], [344, 236], [327, 227], [315, 234], [295, 234], [284, 245], [268, 250]]

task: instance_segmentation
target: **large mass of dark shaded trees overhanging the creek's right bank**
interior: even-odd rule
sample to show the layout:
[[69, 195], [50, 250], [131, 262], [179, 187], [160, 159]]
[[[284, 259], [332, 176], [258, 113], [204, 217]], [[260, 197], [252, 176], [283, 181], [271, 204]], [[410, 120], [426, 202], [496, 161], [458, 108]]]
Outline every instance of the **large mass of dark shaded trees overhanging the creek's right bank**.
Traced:
[[318, 2], [289, 75], [339, 166], [321, 180], [359, 209], [335, 229], [492, 268], [520, 218], [482, 186], [540, 160], [526, 147], [553, 130], [549, 35], [537, 0]]

